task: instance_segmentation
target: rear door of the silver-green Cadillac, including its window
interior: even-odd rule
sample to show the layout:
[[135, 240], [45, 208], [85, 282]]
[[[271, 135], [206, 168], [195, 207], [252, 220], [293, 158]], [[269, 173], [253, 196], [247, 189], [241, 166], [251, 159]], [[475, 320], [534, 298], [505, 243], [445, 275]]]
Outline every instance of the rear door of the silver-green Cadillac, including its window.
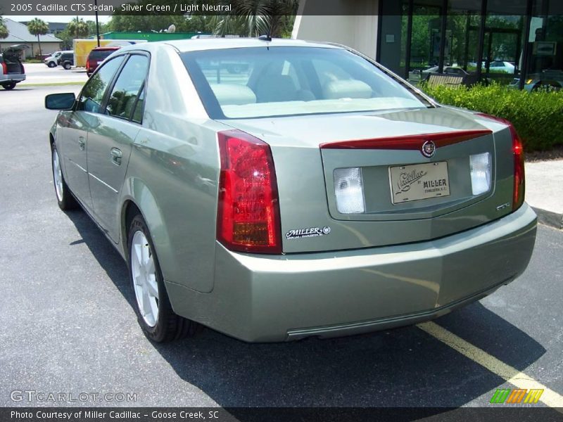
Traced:
[[144, 53], [127, 55], [110, 87], [99, 125], [89, 128], [88, 172], [94, 213], [116, 243], [120, 234], [120, 189], [132, 144], [141, 129], [148, 65], [149, 57]]

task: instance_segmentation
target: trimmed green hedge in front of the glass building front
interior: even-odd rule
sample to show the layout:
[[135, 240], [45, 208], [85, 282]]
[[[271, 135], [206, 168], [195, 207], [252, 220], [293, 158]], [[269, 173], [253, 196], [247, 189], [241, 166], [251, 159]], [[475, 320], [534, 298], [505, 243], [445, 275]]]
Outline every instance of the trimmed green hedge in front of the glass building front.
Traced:
[[526, 151], [563, 145], [563, 91], [530, 93], [499, 84], [472, 88], [422, 85], [421, 89], [438, 103], [510, 120]]

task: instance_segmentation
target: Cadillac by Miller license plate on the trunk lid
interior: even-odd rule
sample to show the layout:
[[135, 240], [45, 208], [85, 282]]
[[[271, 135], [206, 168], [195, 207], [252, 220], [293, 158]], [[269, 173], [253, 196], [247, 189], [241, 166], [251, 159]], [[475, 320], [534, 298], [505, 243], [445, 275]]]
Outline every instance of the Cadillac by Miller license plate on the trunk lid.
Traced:
[[445, 161], [389, 167], [389, 182], [393, 204], [450, 195]]

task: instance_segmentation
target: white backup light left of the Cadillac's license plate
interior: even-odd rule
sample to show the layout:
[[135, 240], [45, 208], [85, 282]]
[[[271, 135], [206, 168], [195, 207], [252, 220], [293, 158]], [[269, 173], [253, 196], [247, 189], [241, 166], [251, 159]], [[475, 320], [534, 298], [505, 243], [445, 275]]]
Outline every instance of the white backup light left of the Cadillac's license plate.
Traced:
[[341, 214], [365, 212], [364, 181], [360, 167], [336, 169], [333, 177], [336, 210]]

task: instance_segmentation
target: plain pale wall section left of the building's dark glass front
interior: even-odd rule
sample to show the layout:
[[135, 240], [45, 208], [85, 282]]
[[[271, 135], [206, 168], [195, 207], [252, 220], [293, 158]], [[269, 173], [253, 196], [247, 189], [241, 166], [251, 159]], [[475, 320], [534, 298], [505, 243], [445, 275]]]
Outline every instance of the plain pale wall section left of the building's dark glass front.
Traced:
[[336, 42], [375, 58], [379, 0], [324, 0], [322, 9], [330, 14], [313, 15], [318, 5], [319, 0], [299, 2], [293, 38]]

